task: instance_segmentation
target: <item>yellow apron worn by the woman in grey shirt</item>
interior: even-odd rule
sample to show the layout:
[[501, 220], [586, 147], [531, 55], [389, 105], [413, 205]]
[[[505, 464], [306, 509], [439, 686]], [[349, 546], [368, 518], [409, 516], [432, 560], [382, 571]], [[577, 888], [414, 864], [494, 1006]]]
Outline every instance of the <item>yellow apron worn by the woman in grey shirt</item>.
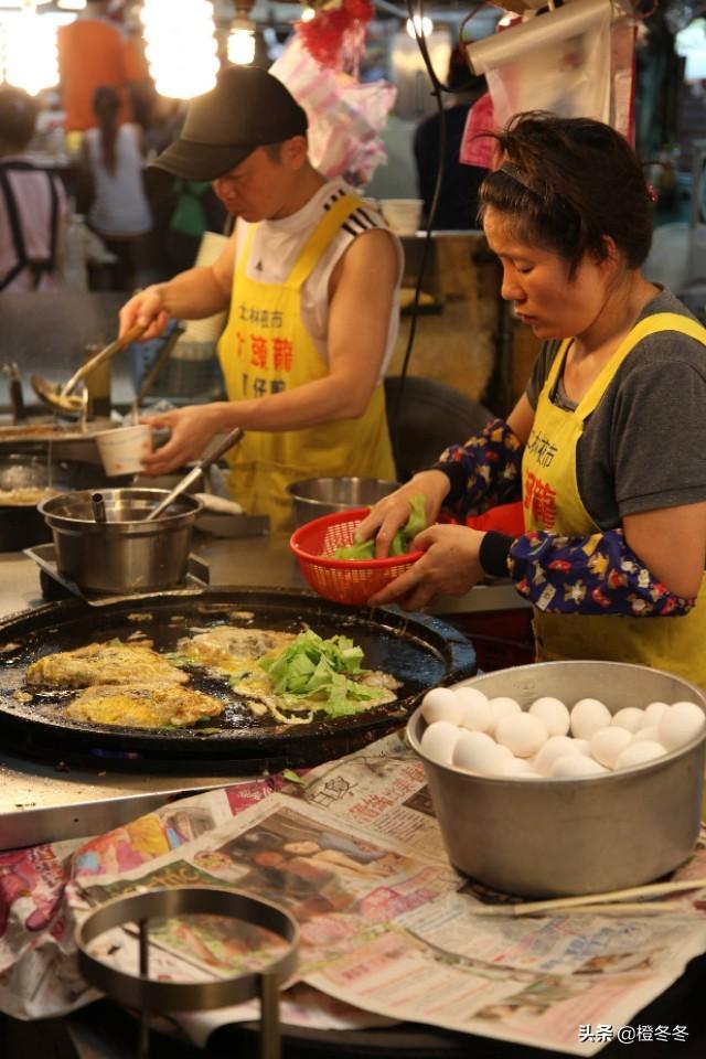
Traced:
[[[621, 342], [574, 411], [558, 408], [550, 400], [569, 341], [561, 343], [539, 394], [523, 456], [526, 530], [578, 537], [600, 533], [581, 502], [576, 478], [576, 450], [584, 424], [633, 346], [649, 334], [667, 330], [687, 334], [706, 345], [706, 331], [687, 317], [666, 312], [649, 317]], [[590, 555], [590, 539], [587, 553]], [[706, 578], [702, 581], [697, 606], [684, 617], [554, 614], [535, 608], [534, 627], [539, 661], [634, 662], [667, 670], [706, 687]]]

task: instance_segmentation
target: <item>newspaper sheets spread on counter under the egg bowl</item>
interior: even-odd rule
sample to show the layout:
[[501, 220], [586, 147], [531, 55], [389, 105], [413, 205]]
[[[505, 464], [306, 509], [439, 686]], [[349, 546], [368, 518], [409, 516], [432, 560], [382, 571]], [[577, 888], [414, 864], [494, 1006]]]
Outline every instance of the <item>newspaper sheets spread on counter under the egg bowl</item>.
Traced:
[[[706, 834], [674, 875], [704, 877]], [[0, 1009], [34, 1018], [94, 999], [67, 959], [76, 923], [108, 898], [174, 885], [233, 886], [295, 914], [300, 963], [281, 1018], [317, 1029], [410, 1020], [589, 1056], [706, 951], [706, 888], [653, 916], [474, 914], [516, 899], [450, 867], [421, 762], [391, 736], [297, 782], [249, 781], [87, 842], [0, 855]], [[95, 944], [135, 973], [131, 930]], [[269, 951], [218, 917], [162, 922], [150, 940], [151, 973], [176, 981], [253, 970]], [[257, 1013], [252, 1002], [179, 1025], [203, 1045]]]

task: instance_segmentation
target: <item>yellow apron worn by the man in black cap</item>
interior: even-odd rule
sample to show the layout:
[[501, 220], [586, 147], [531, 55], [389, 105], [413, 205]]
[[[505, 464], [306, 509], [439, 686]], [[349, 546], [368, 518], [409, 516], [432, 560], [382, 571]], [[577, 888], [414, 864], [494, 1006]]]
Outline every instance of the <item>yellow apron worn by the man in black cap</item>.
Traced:
[[[248, 278], [255, 231], [250, 228], [235, 270], [228, 323], [218, 342], [229, 400], [293, 389], [328, 374], [301, 321], [301, 288], [346, 217], [361, 205], [352, 195], [340, 199], [304, 242], [282, 284]], [[249, 514], [268, 514], [274, 532], [288, 530], [290, 482], [342, 474], [394, 479], [383, 387], [375, 387], [360, 419], [304, 430], [249, 431], [227, 459], [234, 500]]]

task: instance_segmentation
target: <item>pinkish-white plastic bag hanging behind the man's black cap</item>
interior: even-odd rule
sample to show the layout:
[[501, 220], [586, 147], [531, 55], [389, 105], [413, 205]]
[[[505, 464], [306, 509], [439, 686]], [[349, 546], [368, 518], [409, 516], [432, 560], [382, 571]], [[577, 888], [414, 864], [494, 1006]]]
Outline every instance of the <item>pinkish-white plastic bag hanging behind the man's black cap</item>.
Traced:
[[292, 38], [269, 73], [285, 84], [309, 118], [309, 157], [329, 178], [366, 184], [387, 160], [379, 133], [397, 89], [386, 81], [355, 81], [327, 69]]

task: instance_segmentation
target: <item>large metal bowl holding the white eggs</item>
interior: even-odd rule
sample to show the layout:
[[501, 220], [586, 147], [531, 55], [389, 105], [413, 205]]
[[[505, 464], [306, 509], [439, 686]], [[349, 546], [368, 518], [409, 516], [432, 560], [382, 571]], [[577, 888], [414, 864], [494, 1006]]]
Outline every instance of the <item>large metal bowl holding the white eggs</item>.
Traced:
[[[691, 699], [696, 685], [622, 662], [542, 662], [463, 681], [489, 698], [509, 695], [526, 709], [541, 695], [567, 706], [598, 698], [623, 706]], [[456, 685], [460, 686], [460, 685]], [[598, 894], [652, 881], [692, 853], [704, 783], [704, 735], [638, 768], [589, 779], [495, 779], [431, 761], [421, 750], [418, 708], [407, 738], [424, 761], [451, 864], [509, 894]]]

